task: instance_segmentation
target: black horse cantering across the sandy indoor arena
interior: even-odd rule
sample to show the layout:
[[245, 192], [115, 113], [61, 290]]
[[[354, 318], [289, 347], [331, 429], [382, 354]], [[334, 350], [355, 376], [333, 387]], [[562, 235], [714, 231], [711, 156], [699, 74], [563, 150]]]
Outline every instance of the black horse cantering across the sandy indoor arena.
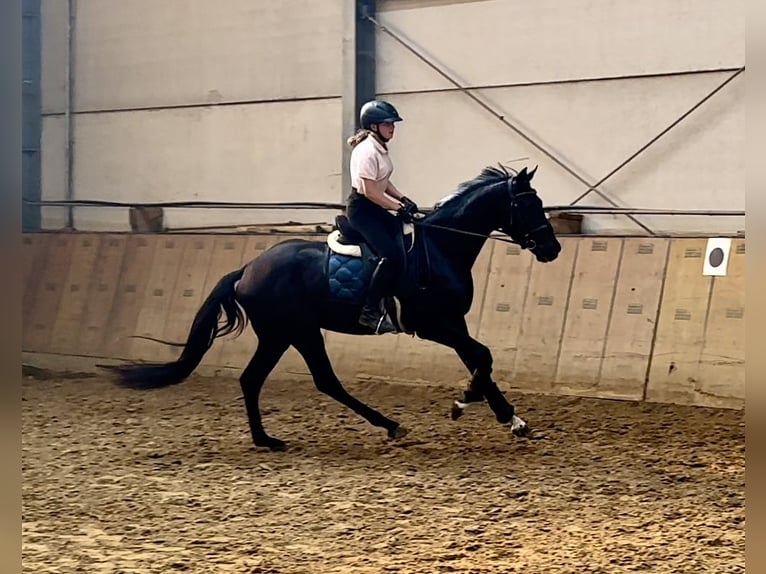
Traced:
[[[509, 235], [540, 262], [553, 261], [561, 250], [542, 201], [530, 185], [535, 170], [515, 173], [488, 167], [414, 222], [414, 247], [409, 250], [408, 272], [400, 281], [398, 295], [402, 330], [454, 349], [472, 375], [462, 400], [455, 401], [453, 419], [468, 403], [486, 399], [497, 420], [511, 423], [517, 435], [525, 434], [527, 425], [492, 380], [492, 355], [469, 335], [465, 315], [473, 300], [471, 267], [493, 231]], [[349, 234], [347, 222], [341, 228]], [[389, 437], [404, 436], [407, 431], [399, 423], [351, 396], [333, 372], [321, 329], [372, 333], [357, 322], [361, 302], [349, 304], [332, 296], [329, 257], [327, 242], [291, 239], [274, 245], [221, 278], [194, 317], [178, 360], [109, 368], [128, 387], [180, 383], [217, 337], [239, 335], [249, 319], [258, 346], [240, 384], [256, 446], [285, 448], [263, 428], [259, 395], [290, 345], [302, 355], [319, 391], [386, 429]]]

